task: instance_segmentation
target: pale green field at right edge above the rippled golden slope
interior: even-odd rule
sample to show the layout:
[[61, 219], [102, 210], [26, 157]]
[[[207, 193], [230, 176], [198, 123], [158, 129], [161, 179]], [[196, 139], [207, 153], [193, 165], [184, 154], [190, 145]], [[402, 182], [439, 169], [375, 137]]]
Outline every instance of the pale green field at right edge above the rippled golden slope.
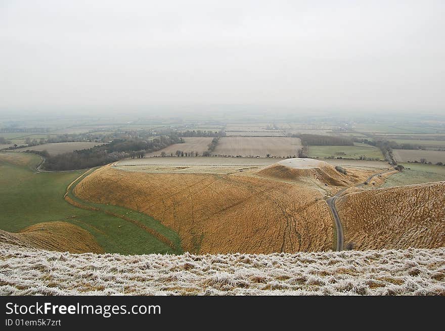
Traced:
[[390, 175], [382, 187], [421, 184], [445, 180], [445, 166], [399, 163], [405, 170]]

